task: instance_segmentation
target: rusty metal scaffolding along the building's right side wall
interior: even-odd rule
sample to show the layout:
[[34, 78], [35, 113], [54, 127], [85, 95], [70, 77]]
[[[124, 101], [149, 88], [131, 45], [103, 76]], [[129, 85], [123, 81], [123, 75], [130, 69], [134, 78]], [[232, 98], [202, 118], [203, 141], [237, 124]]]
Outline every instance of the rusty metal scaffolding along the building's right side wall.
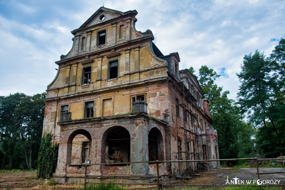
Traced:
[[[182, 74], [180, 76], [181, 81], [174, 81], [172, 85], [174, 85], [175, 97], [180, 96], [182, 102], [175, 104], [177, 107], [181, 107], [183, 110], [183, 123], [178, 124], [178, 117], [176, 117], [176, 132], [177, 132], [177, 148], [178, 152], [176, 153], [178, 156], [178, 160], [182, 160], [181, 154], [185, 154], [186, 160], [205, 160], [203, 158], [203, 152], [200, 149], [202, 147], [198, 146], [198, 140], [201, 139], [202, 135], [198, 134], [197, 131], [202, 131], [201, 126], [201, 113], [203, 113], [203, 102], [199, 98], [199, 93], [194, 93], [194, 85], [189, 82], [188, 78], [184, 75], [184, 70], [180, 71]], [[186, 87], [186, 85], [188, 87]], [[202, 105], [201, 107], [199, 105]], [[181, 119], [180, 119], [181, 121]], [[206, 132], [205, 132], [206, 135]], [[181, 151], [181, 138], [184, 138], [185, 151]], [[186, 162], [186, 173], [200, 171], [204, 168], [198, 165], [198, 162]], [[178, 162], [179, 173], [183, 173], [180, 171], [180, 163]], [[182, 169], [181, 169], [182, 170]]]

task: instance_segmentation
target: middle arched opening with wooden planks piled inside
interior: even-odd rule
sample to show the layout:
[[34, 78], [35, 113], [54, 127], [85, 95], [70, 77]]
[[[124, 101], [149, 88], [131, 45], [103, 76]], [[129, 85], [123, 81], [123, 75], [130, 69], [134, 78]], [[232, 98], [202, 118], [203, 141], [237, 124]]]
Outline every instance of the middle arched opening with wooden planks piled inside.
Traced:
[[[127, 129], [117, 126], [111, 130], [105, 142], [105, 162], [130, 162], [130, 134]], [[103, 145], [103, 144], [102, 144]], [[111, 165], [112, 166], [112, 165]], [[116, 166], [126, 166], [125, 164]]]

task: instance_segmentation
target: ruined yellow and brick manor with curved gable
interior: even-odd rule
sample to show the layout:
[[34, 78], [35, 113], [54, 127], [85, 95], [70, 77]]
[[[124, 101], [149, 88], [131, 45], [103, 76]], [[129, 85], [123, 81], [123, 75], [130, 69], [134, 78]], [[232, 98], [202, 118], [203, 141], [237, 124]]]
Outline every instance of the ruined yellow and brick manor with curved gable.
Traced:
[[[217, 132], [197, 78], [163, 55], [137, 11], [101, 7], [73, 30], [47, 87], [43, 132], [59, 144], [54, 177], [84, 176], [86, 163], [218, 159]], [[160, 164], [162, 175], [219, 167], [218, 162]], [[155, 175], [154, 164], [88, 167], [89, 175]]]

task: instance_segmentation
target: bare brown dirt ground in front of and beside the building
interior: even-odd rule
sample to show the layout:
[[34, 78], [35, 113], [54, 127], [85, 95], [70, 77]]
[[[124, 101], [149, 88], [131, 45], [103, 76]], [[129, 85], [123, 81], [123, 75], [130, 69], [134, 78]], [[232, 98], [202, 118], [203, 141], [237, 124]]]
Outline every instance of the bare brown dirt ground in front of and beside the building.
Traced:
[[[266, 172], [284, 172], [282, 174], [266, 174], [260, 175], [260, 179], [277, 179], [281, 180], [280, 184], [285, 184], [285, 170], [283, 168], [259, 168], [260, 173]], [[162, 179], [162, 184], [169, 185], [224, 185], [226, 183], [227, 177], [231, 180], [234, 177], [240, 180], [257, 180], [256, 168], [221, 168], [220, 170], [211, 170], [201, 172], [200, 177], [192, 176], [192, 179], [175, 179], [168, 178]], [[19, 173], [5, 171], [0, 173], [0, 189], [78, 189], [80, 184], [66, 184], [66, 185], [53, 185], [49, 186], [46, 184], [46, 180], [36, 180], [36, 173], [30, 171], [22, 171]], [[82, 187], [82, 186], [81, 186]], [[142, 188], [154, 188], [155, 186], [127, 186], [126, 189], [142, 189]]]

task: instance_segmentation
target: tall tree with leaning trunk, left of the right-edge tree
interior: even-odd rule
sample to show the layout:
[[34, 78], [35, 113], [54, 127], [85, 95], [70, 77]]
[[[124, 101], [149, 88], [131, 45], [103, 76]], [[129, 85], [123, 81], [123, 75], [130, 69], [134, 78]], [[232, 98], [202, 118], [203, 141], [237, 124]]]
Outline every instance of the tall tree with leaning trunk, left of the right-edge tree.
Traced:
[[255, 54], [245, 55], [241, 65], [241, 73], [237, 74], [241, 85], [239, 86], [238, 101], [242, 113], [248, 115], [248, 119], [256, 127], [268, 128], [268, 122], [272, 126], [278, 139], [280, 154], [284, 151], [279, 135], [276, 118], [272, 113], [275, 89], [278, 86], [276, 77], [270, 73], [274, 71], [274, 64], [265, 59], [263, 53], [258, 50]]

